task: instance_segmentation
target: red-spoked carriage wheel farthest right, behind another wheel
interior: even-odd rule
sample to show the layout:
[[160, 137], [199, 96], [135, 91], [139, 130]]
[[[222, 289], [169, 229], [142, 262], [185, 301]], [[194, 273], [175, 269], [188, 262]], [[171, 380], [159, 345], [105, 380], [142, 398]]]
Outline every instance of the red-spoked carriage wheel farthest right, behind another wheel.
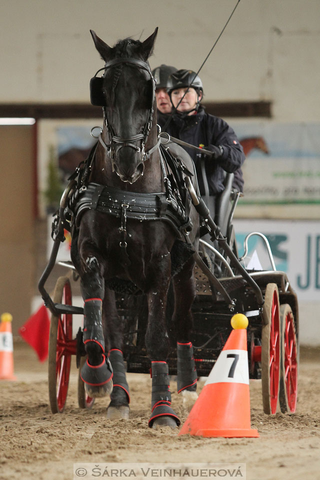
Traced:
[[282, 413], [294, 413], [298, 387], [298, 355], [294, 317], [290, 305], [280, 306], [281, 362], [279, 403]]

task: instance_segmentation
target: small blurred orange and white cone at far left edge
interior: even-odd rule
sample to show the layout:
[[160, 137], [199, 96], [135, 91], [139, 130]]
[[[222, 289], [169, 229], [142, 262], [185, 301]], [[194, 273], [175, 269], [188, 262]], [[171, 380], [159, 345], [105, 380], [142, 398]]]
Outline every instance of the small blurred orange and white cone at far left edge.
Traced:
[[12, 315], [2, 313], [0, 323], [0, 380], [15, 380], [13, 375]]

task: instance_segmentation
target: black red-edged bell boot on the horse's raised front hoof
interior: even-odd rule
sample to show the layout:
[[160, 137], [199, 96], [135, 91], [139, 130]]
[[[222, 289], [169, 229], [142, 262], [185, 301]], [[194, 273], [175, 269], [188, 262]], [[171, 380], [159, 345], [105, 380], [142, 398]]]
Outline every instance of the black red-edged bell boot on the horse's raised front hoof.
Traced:
[[85, 383], [87, 393], [92, 397], [105, 396], [112, 390], [112, 367], [108, 358], [102, 355], [103, 360], [99, 365], [90, 365], [85, 361], [81, 368], [80, 376]]

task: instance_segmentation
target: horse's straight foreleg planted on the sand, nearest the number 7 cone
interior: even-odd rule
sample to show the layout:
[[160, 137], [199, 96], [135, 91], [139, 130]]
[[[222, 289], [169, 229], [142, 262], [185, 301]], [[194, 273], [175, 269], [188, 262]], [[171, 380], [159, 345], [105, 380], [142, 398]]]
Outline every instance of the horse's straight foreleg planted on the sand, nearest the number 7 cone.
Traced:
[[[159, 280], [159, 274], [157, 276]], [[149, 427], [166, 425], [175, 428], [180, 424], [178, 416], [171, 408], [171, 392], [168, 375], [169, 342], [165, 325], [166, 294], [169, 274], [156, 288], [147, 293], [148, 325], [145, 346], [151, 360], [152, 394]]]

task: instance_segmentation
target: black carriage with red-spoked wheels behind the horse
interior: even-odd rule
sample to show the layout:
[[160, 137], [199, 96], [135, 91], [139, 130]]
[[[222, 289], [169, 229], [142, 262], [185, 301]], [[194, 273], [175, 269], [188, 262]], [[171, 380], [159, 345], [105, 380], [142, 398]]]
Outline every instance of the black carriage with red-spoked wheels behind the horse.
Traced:
[[[217, 201], [215, 219], [221, 225], [221, 236], [227, 239], [231, 251], [237, 256], [232, 217], [241, 194], [232, 190], [231, 180], [232, 174], [227, 174], [226, 188]], [[61, 200], [62, 205], [68, 195], [69, 192], [66, 191]], [[249, 377], [261, 379], [263, 411], [274, 414], [279, 403], [282, 412], [293, 413], [297, 400], [299, 357], [297, 297], [286, 274], [275, 269], [267, 239], [258, 232], [249, 235], [252, 234], [263, 238], [269, 253], [271, 269], [248, 270], [246, 275], [243, 275], [243, 267], [242, 274], [239, 274], [236, 268], [230, 265], [230, 260], [221, 247], [214, 248], [200, 240], [202, 245], [200, 255], [204, 263], [210, 266], [211, 271], [214, 271], [214, 265], [212, 267], [210, 264], [207, 253], [214, 250], [215, 262], [220, 272], [220, 276], [217, 277], [220, 288], [216, 282], [212, 282], [210, 276], [207, 276], [207, 270], [202, 271], [198, 265], [195, 266], [196, 297], [192, 306], [194, 318], [192, 344], [197, 374], [198, 376], [209, 374], [230, 334], [232, 315], [235, 312], [244, 313], [249, 320], [247, 327]], [[246, 245], [247, 238], [245, 247]], [[83, 309], [72, 306], [69, 276], [58, 278], [53, 300], [44, 290], [44, 282], [54, 266], [58, 246], [59, 240], [55, 239], [49, 264], [39, 282], [45, 303], [52, 311], [49, 339], [49, 399], [51, 411], [54, 413], [62, 412], [64, 409], [71, 356], [76, 356], [78, 367], [83, 364], [85, 358], [81, 329], [76, 338], [72, 337], [72, 314], [83, 314]], [[238, 258], [237, 261], [240, 265]], [[73, 270], [73, 278], [77, 278], [71, 262], [60, 263]], [[253, 281], [249, 282], [248, 277]], [[225, 296], [224, 292], [228, 296]], [[145, 303], [142, 296], [141, 292], [135, 295], [117, 293], [117, 309], [125, 323], [123, 355], [127, 372], [147, 373], [150, 368], [144, 345], [146, 318], [143, 315]], [[167, 329], [170, 332], [172, 348], [167, 361], [169, 374], [175, 375], [175, 335], [169, 320], [169, 309], [170, 306]], [[91, 408], [93, 402], [94, 399], [86, 394], [79, 375], [79, 407]]]

